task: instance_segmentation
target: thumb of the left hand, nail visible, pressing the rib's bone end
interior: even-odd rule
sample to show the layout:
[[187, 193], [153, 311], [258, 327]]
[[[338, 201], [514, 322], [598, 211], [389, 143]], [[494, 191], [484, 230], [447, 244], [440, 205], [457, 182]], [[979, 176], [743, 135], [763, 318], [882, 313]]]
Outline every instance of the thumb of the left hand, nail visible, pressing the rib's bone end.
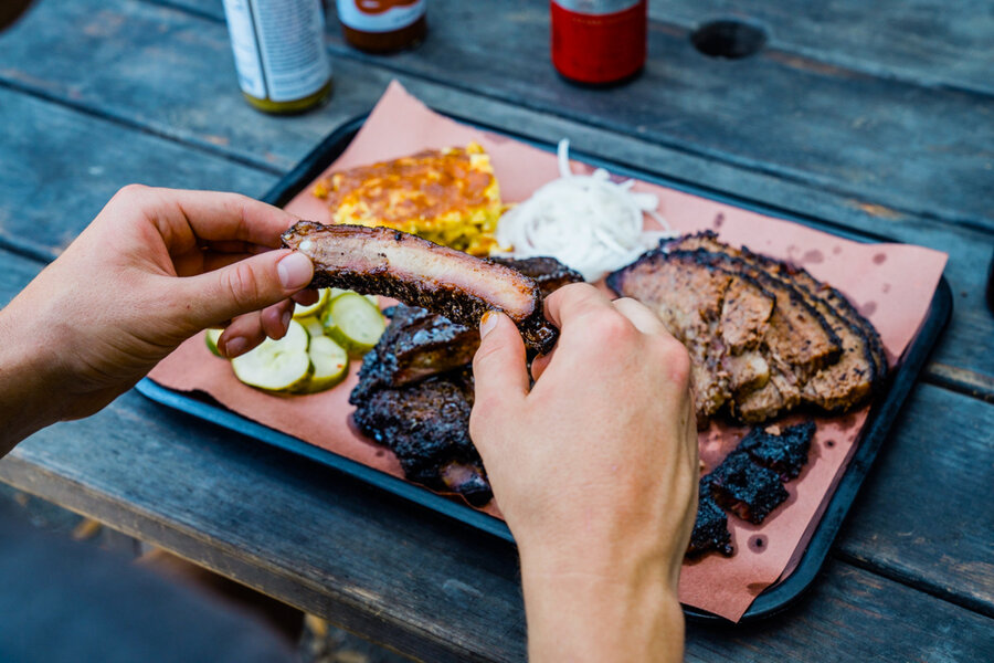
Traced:
[[314, 264], [299, 252], [267, 251], [236, 263], [182, 278], [188, 319], [198, 330], [260, 311], [304, 290]]

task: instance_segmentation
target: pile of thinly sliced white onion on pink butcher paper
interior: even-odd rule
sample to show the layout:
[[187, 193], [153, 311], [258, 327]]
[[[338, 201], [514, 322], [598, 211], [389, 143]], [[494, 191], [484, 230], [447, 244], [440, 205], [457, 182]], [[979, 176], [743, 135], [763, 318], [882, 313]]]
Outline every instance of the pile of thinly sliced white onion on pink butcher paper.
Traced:
[[[569, 140], [559, 141], [559, 179], [500, 218], [499, 253], [515, 257], [550, 255], [586, 281], [596, 281], [653, 249], [660, 239], [676, 235], [656, 212], [656, 196], [632, 191], [634, 180], [611, 181], [603, 168], [591, 175], [573, 175], [569, 149]], [[663, 230], [644, 231], [644, 214]]]

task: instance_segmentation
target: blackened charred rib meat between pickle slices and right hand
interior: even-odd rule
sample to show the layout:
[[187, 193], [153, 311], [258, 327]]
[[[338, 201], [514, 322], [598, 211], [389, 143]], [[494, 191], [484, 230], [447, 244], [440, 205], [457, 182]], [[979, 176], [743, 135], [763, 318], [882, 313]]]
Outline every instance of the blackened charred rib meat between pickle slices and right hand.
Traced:
[[476, 504], [489, 501], [483, 462], [469, 441], [468, 370], [403, 387], [353, 391], [349, 402], [356, 406], [352, 419], [359, 430], [393, 451], [409, 480], [435, 490], [465, 491]]

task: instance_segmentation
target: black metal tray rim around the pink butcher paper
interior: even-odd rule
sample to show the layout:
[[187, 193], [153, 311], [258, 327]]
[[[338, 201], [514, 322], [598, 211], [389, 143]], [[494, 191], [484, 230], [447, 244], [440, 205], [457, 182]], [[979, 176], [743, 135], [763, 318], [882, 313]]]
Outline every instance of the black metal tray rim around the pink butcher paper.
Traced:
[[[549, 143], [533, 140], [504, 128], [484, 125], [457, 116], [451, 117], [463, 124], [472, 125], [487, 131], [504, 134], [541, 149], [556, 151], [556, 146]], [[356, 134], [362, 127], [366, 118], [367, 116], [364, 115], [356, 117], [331, 131], [331, 134], [311, 150], [296, 168], [279, 180], [279, 182], [266, 193], [263, 200], [278, 207], [289, 202], [294, 196], [324, 172], [325, 169], [345, 151], [356, 137]], [[741, 209], [759, 212], [768, 217], [786, 219], [846, 239], [861, 242], [892, 242], [892, 240], [880, 235], [856, 232], [828, 221], [800, 215], [787, 210], [763, 204], [762, 202], [731, 197], [719, 191], [696, 186], [691, 182], [660, 177], [623, 164], [616, 164], [585, 155], [577, 150], [570, 150], [570, 156], [571, 158], [584, 161], [592, 166], [605, 168], [615, 175], [662, 185], [678, 191], [700, 196], [701, 198], [708, 198]], [[870, 410], [856, 452], [853, 455], [845, 474], [839, 480], [835, 493], [822, 516], [821, 523], [818, 523], [817, 529], [815, 529], [812, 535], [807, 549], [804, 551], [804, 556], [799, 562], [797, 568], [795, 568], [785, 579], [766, 588], [765, 591], [757, 597], [755, 601], [749, 607], [749, 610], [745, 611], [745, 614], [742, 615], [739, 623], [764, 619], [784, 610], [800, 598], [804, 590], [814, 581], [825, 561], [825, 557], [828, 555], [828, 550], [835, 540], [835, 536], [838, 534], [838, 529], [842, 526], [846, 514], [849, 512], [849, 507], [856, 498], [856, 493], [859, 491], [863, 480], [866, 478], [869, 467], [873, 464], [874, 459], [876, 459], [877, 452], [890, 430], [890, 425], [893, 423], [905, 399], [911, 391], [911, 387], [924, 366], [932, 346], [942, 334], [951, 315], [952, 293], [949, 283], [943, 276], [932, 297], [924, 323], [918, 330], [918, 334], [912, 339], [911, 344], [905, 350], [905, 355], [901, 357], [897, 370], [895, 370], [893, 375], [889, 378], [887, 392], [882, 398], [877, 400]], [[177, 410], [193, 414], [194, 417], [255, 438], [268, 444], [315, 460], [405, 499], [410, 499], [437, 513], [461, 520], [483, 532], [508, 541], [514, 541], [507, 525], [498, 518], [477, 512], [426, 488], [384, 474], [378, 470], [362, 465], [361, 463], [350, 461], [349, 459], [339, 456], [277, 430], [245, 419], [241, 414], [218, 404], [213, 399], [199, 398], [190, 393], [173, 391], [157, 385], [148, 378], [141, 380], [138, 383], [137, 389], [146, 397], [159, 403], [176, 408]], [[684, 611], [689, 618], [696, 621], [727, 623], [727, 620], [721, 617], [688, 606], [684, 607]]]

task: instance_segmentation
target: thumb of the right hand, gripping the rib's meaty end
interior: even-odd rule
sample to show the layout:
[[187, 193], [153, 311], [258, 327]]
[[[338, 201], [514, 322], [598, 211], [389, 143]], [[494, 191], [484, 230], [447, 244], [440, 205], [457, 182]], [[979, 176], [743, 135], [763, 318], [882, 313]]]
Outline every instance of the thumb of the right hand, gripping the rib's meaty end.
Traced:
[[[474, 404], [470, 429], [488, 425], [517, 409], [528, 394], [525, 343], [509, 317], [488, 311], [479, 323], [479, 349], [473, 357]], [[476, 440], [478, 435], [470, 436]]]

